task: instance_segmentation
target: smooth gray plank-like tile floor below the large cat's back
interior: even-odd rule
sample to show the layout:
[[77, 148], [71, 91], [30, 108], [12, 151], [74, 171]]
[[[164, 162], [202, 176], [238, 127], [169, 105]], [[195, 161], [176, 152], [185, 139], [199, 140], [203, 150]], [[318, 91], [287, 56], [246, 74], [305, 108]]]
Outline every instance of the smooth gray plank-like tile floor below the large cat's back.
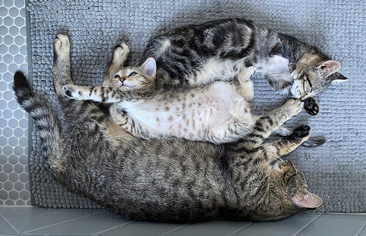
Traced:
[[0, 235], [366, 236], [366, 214], [301, 213], [278, 222], [129, 221], [103, 210], [0, 207]]

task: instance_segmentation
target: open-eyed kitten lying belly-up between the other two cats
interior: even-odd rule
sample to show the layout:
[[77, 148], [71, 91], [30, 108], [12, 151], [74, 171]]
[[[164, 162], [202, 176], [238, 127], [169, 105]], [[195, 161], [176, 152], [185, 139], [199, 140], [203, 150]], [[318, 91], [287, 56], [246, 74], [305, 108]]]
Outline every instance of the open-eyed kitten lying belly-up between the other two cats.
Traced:
[[[120, 48], [128, 53], [125, 44]], [[114, 58], [119, 53], [116, 50]], [[155, 60], [148, 58], [140, 68], [111, 71], [112, 87], [70, 84], [63, 87], [63, 92], [74, 99], [113, 103], [112, 119], [144, 139], [178, 137], [217, 144], [232, 142], [248, 134], [260, 118], [250, 113], [249, 102], [253, 97], [250, 69], [242, 71], [237, 81], [217, 81], [186, 91], [159, 90], [154, 83], [155, 72]], [[282, 128], [278, 132], [283, 131], [287, 130]]]

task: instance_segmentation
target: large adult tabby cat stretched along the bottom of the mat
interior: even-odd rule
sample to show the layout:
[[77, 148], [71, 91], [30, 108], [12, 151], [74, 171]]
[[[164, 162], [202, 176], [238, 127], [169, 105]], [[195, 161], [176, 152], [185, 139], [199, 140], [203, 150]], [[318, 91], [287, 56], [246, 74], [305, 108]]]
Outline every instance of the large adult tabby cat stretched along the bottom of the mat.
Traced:
[[53, 112], [21, 72], [14, 75], [14, 91], [40, 131], [46, 168], [70, 191], [122, 218], [160, 222], [273, 221], [322, 204], [307, 190], [304, 174], [280, 158], [308, 139], [310, 127], [263, 143], [300, 112], [300, 100], [289, 99], [261, 117], [235, 143], [148, 142], [126, 133], [101, 106], [63, 96], [62, 86], [73, 83], [66, 36], [55, 39], [54, 57], [53, 82], [63, 114]]

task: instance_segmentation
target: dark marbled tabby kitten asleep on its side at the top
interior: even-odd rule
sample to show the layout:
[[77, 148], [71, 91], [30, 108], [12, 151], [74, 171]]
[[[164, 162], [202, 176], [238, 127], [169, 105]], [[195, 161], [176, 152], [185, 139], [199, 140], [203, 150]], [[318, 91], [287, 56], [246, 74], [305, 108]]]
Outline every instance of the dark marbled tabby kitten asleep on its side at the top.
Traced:
[[144, 53], [156, 59], [165, 86], [201, 86], [230, 81], [240, 69], [254, 66], [276, 90], [305, 99], [311, 115], [315, 98], [332, 81], [346, 80], [341, 64], [315, 47], [244, 19], [209, 21], [153, 38]]

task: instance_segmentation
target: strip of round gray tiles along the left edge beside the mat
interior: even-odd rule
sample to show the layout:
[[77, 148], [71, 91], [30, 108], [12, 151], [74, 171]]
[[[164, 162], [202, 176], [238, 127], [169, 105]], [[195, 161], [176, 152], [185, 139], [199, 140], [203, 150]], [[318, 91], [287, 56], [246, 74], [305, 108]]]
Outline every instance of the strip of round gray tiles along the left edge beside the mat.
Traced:
[[30, 205], [28, 115], [12, 90], [19, 69], [28, 72], [25, 2], [0, 0], [0, 206]]

